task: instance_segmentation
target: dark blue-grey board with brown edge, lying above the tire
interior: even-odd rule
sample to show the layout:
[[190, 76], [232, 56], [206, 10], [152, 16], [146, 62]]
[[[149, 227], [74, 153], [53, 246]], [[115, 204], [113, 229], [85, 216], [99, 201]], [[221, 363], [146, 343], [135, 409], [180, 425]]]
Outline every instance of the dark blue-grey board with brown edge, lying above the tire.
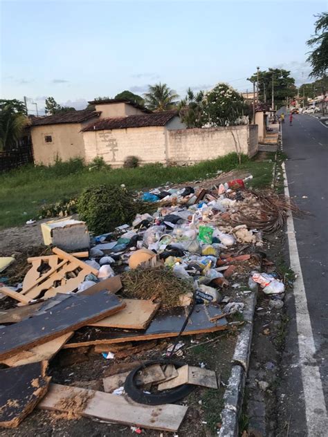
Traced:
[[[159, 310], [149, 327], [143, 331], [122, 331], [113, 328], [83, 328], [75, 332], [64, 348], [91, 346], [93, 344], [111, 344], [153, 340], [158, 338], [176, 337], [179, 335], [189, 308], [176, 307], [172, 310]], [[211, 317], [221, 315], [221, 310], [214, 305], [196, 305], [182, 335], [212, 333], [226, 329], [226, 318], [210, 322]]]

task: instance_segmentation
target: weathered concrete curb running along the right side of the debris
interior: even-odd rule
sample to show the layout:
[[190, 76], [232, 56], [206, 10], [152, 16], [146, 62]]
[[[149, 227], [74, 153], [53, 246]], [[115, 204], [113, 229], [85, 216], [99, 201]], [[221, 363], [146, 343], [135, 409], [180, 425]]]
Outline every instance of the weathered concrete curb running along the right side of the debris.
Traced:
[[233, 355], [233, 367], [228, 380], [228, 387], [224, 393], [224, 409], [221, 411], [219, 437], [238, 436], [238, 420], [240, 412], [242, 411], [244, 388], [248, 371], [257, 292], [253, 292], [248, 299], [249, 301], [244, 310], [244, 320], [246, 323], [238, 336], [235, 353]]

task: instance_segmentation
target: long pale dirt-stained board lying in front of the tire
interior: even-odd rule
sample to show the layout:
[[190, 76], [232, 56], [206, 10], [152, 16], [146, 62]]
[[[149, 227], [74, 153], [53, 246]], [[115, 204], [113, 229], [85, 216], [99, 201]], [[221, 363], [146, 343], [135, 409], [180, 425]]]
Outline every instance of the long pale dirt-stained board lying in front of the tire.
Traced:
[[76, 396], [89, 397], [84, 409], [80, 411], [81, 416], [163, 431], [178, 431], [188, 409], [183, 405], [142, 405], [125, 396], [60, 384], [51, 384], [48, 394], [38, 407], [51, 411], [65, 411], [60, 409], [60, 405], [64, 404], [63, 400], [70, 400]]

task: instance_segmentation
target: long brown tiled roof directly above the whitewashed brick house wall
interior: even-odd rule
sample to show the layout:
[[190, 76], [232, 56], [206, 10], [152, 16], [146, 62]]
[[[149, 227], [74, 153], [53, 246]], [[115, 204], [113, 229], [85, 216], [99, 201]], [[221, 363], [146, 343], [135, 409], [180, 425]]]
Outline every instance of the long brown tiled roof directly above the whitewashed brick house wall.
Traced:
[[104, 118], [88, 124], [82, 131], [104, 131], [110, 129], [127, 129], [129, 127], [165, 126], [178, 113], [176, 111], [156, 112], [151, 114], [129, 115], [120, 118]]

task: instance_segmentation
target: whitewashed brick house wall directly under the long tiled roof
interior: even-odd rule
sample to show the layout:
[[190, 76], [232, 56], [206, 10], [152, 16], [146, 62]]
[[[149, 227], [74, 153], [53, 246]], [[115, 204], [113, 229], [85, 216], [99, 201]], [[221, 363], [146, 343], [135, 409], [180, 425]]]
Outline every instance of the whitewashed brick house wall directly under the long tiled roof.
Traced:
[[143, 163], [166, 163], [166, 132], [165, 127], [83, 132], [86, 162], [102, 156], [112, 167], [122, 167], [125, 158], [133, 155]]

